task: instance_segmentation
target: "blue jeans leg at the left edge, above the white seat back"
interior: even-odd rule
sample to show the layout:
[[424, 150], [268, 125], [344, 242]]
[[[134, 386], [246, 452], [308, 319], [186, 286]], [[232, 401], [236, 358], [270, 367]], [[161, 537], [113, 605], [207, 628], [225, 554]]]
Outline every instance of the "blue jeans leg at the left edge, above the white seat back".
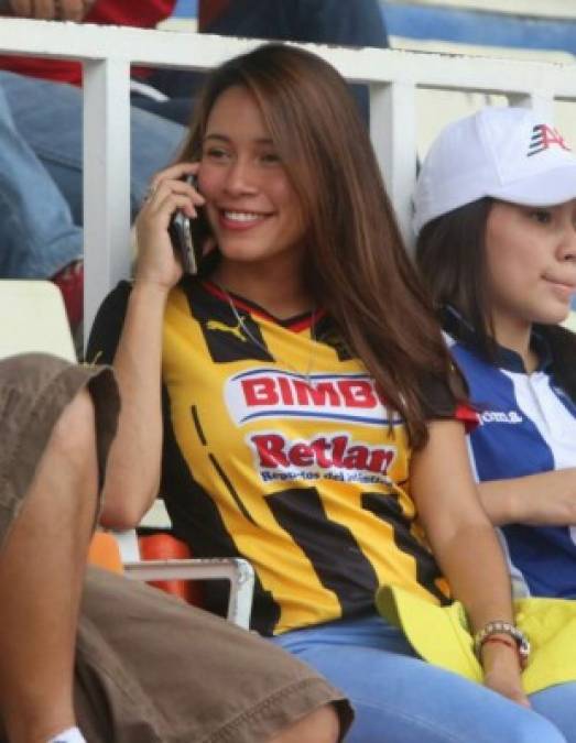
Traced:
[[81, 229], [18, 131], [0, 85], [0, 276], [45, 278], [81, 251]]

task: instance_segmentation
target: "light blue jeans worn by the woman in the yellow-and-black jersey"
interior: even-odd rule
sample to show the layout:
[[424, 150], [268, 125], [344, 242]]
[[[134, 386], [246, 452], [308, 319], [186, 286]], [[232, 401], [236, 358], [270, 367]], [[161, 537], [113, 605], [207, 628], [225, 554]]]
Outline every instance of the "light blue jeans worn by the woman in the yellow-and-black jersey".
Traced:
[[532, 710], [417, 658], [379, 616], [287, 632], [276, 645], [350, 699], [347, 743], [575, 743], [576, 684], [535, 693]]

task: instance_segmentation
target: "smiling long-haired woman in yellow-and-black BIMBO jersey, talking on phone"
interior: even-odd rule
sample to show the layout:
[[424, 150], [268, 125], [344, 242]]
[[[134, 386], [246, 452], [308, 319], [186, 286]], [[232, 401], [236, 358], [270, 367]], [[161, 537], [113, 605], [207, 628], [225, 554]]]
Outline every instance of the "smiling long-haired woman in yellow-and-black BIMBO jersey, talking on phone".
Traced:
[[[287, 45], [228, 61], [153, 186], [133, 285], [89, 345], [122, 391], [106, 523], [138, 522], [161, 488], [196, 555], [249, 559], [252, 629], [344, 689], [349, 743], [564, 741], [526, 709], [515, 640], [479, 651], [487, 689], [377, 614], [396, 584], [513, 631], [466, 455], [476, 416], [345, 80]], [[176, 209], [209, 225], [198, 276], [174, 258]]]

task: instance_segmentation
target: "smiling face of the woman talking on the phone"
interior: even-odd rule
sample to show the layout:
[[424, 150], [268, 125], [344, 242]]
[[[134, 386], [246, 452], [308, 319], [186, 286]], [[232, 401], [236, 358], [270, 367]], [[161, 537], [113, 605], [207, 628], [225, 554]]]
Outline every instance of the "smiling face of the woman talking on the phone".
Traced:
[[[224, 261], [301, 261], [304, 220], [300, 198], [253, 96], [226, 90], [204, 138], [199, 189]], [[290, 263], [291, 259], [289, 259]]]

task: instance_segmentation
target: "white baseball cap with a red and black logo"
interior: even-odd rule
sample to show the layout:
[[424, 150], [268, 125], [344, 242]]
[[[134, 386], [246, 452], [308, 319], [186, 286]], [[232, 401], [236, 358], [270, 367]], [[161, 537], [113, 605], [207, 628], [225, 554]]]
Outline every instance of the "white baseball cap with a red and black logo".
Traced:
[[416, 181], [413, 227], [485, 196], [524, 206], [576, 198], [576, 155], [558, 130], [524, 108], [488, 107], [448, 124]]

